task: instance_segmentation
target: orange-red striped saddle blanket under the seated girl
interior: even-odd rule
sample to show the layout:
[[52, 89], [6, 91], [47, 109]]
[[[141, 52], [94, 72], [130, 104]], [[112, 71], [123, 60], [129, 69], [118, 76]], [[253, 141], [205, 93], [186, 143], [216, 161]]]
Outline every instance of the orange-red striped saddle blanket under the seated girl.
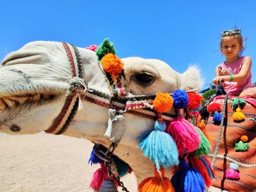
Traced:
[[[218, 96], [211, 101], [221, 104], [220, 113], [223, 110], [224, 98], [225, 96]], [[247, 102], [241, 110], [245, 115], [245, 120], [234, 122], [232, 118], [234, 113], [233, 100], [232, 97], [228, 97], [221, 142], [213, 166], [215, 179], [212, 181], [212, 186], [228, 192], [256, 192], [256, 99], [250, 97], [243, 97], [242, 99]], [[207, 156], [211, 163], [220, 131], [220, 125], [214, 125], [212, 117], [209, 116], [205, 128], [212, 140], [212, 151]], [[196, 118], [198, 126], [201, 118], [200, 114]], [[248, 137], [246, 143], [249, 143], [249, 148], [247, 151], [236, 151], [235, 143], [239, 143], [243, 135]], [[240, 175], [239, 180], [225, 177], [225, 171], [230, 169], [230, 163], [236, 163], [239, 166], [237, 171]]]

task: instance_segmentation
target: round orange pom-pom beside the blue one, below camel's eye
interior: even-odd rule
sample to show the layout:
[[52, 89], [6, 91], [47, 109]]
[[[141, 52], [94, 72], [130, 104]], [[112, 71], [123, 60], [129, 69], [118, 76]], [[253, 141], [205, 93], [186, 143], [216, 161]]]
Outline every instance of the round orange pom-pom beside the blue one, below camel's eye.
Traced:
[[153, 101], [154, 110], [160, 113], [169, 111], [173, 105], [172, 96], [169, 93], [157, 93]]

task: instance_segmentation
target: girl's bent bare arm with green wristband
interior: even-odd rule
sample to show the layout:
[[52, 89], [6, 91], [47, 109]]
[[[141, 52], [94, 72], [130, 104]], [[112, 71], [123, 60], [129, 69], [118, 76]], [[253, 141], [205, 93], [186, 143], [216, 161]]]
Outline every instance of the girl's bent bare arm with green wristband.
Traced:
[[[251, 67], [252, 67], [252, 59], [249, 56], [244, 57], [244, 61], [243, 61], [241, 70], [240, 70], [239, 74], [233, 75], [233, 81], [234, 82], [243, 81], [244, 78], [249, 73]], [[231, 81], [231, 77], [230, 76], [218, 76], [213, 79], [212, 83], [213, 84], [221, 84], [221, 81]]]

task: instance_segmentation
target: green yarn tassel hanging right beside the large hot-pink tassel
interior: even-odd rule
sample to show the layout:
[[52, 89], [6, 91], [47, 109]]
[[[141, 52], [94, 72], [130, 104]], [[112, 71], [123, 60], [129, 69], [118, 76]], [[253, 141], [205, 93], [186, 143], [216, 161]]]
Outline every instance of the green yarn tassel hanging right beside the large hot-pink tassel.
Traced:
[[198, 157], [202, 157], [202, 154], [204, 155], [208, 155], [209, 152], [210, 152], [210, 143], [209, 141], [207, 140], [207, 138], [205, 137], [203, 131], [201, 131], [200, 128], [196, 127], [199, 134], [200, 134], [200, 139], [201, 139], [201, 143], [200, 145], [198, 146], [197, 150], [195, 150], [193, 153]]

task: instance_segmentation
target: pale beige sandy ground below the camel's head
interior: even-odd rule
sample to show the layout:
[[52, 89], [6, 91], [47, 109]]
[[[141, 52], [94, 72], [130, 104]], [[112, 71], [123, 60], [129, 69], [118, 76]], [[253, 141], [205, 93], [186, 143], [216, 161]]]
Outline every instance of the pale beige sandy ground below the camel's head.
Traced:
[[[100, 166], [88, 164], [92, 147], [63, 135], [0, 134], [0, 192], [93, 192], [91, 177]], [[134, 173], [122, 181], [137, 192]]]

